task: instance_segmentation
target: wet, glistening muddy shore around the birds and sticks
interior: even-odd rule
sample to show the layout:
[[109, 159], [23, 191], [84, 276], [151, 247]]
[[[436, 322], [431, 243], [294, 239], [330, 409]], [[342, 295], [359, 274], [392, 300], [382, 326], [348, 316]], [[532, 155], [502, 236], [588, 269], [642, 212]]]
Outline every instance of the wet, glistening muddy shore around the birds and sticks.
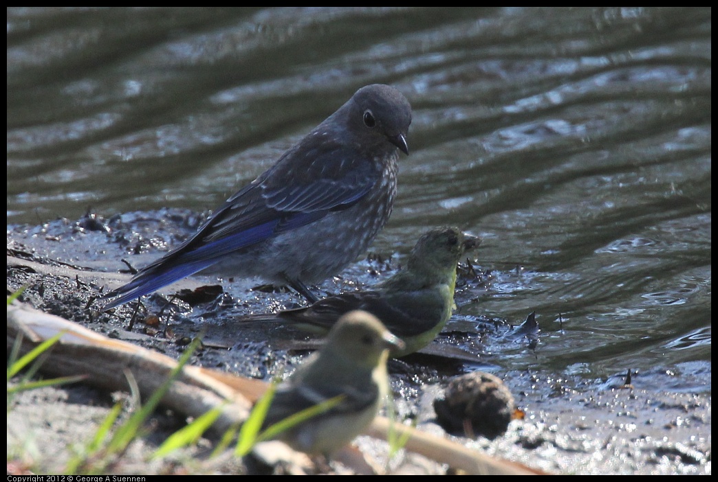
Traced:
[[[129, 257], [126, 255], [129, 247], [149, 252], [148, 257], [136, 258], [136, 263], [141, 264], [144, 259], [157, 255], [157, 250], [194, 230], [201, 219], [201, 215], [168, 211], [134, 214], [122, 222], [85, 217], [39, 227], [8, 227], [7, 289], [11, 292], [25, 285], [27, 289], [20, 299], [34, 308], [174, 358], [182, 351], [184, 339], [204, 332], [208, 343], [193, 357], [192, 364], [261, 379], [289, 372], [307, 353], [305, 348], [311, 346], [311, 339], [281, 326], [238, 329], [230, 323], [230, 318], [237, 311], [297, 306], [301, 301], [292, 293], [253, 290], [251, 283], [241, 280], [233, 280], [229, 289], [229, 281], [224, 280], [224, 293], [220, 296], [193, 308], [183, 302], [175, 303], [180, 308], [163, 311], [161, 326], [141, 323], [143, 315], [133, 323], [131, 331], [128, 327], [134, 309], [130, 306], [118, 308], [113, 314], [87, 308], [88, 302], [101, 290], [112, 288], [129, 276], [116, 273], [123, 266], [120, 260]], [[168, 226], [174, 227], [173, 230]], [[176, 230], [178, 226], [180, 229]], [[389, 258], [375, 255], [356, 263], [342, 278], [331, 280], [321, 288], [338, 292], [383, 279], [398, 263]], [[467, 281], [469, 290], [471, 283], [477, 281]], [[217, 284], [217, 280], [213, 283], [194, 278], [182, 283], [180, 288], [207, 284]], [[170, 292], [177, 289], [173, 286]], [[242, 301], [238, 301], [236, 293], [241, 293]], [[146, 301], [148, 313], [156, 314], [166, 299], [159, 294], [150, 296]], [[491, 323], [495, 330], [503, 329], [500, 321], [487, 321], [487, 326]], [[421, 430], [442, 433], [434, 420], [432, 401], [447, 380], [462, 371], [462, 364], [457, 364], [447, 349], [455, 336], [472, 334], [443, 334], [437, 342], [438, 349], [434, 347], [434, 354], [391, 365], [392, 388], [400, 415], [416, 417]], [[539, 351], [540, 346], [539, 343]], [[681, 377], [678, 371], [663, 374], [666, 389], [660, 389], [643, 387], [640, 373], [633, 377], [632, 387], [625, 387], [619, 374], [615, 379], [597, 384], [581, 377], [556, 377], [531, 369], [502, 373], [496, 370], [490, 358], [475, 366], [503, 379], [517, 407], [525, 413], [523, 420], [513, 420], [508, 431], [495, 440], [454, 438], [482, 453], [551, 473], [711, 473], [712, 397], [710, 393], [672, 390], [672, 381]], [[705, 370], [709, 377], [709, 364]], [[652, 379], [656, 379], [656, 374], [653, 375]], [[658, 374], [659, 379], [660, 376]], [[93, 427], [101, 421], [101, 414], [111, 407], [113, 397], [118, 395], [83, 385], [42, 389], [16, 397], [8, 413], [9, 463], [17, 461], [34, 470], [57, 473], [62, 468], [62, 454], [70, 450], [72, 443], [90, 436]], [[166, 463], [145, 462], [144, 455], [149, 450], [147, 447], [161, 443], [163, 433], [177, 430], [182, 420], [164, 410], [158, 412], [153, 423], [155, 430], [129, 450], [126, 460], [116, 466], [118, 473], [169, 470]], [[362, 448], [381, 460], [383, 446], [372, 444], [368, 438], [361, 439]], [[29, 446], [34, 449], [27, 448]], [[237, 460], [202, 460], [208, 446], [206, 441], [200, 443], [198, 448], [185, 453], [182, 463], [174, 467], [198, 473], [247, 470]], [[404, 460], [404, 466], [401, 460], [394, 460], [393, 471], [446, 471], [445, 467], [410, 459]], [[332, 470], [340, 471], [337, 466]]]

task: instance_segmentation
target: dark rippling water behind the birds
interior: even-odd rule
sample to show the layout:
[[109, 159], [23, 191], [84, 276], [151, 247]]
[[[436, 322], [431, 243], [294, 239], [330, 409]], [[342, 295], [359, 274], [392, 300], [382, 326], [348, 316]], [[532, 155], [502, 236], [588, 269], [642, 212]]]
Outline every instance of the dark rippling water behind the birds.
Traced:
[[484, 238], [489, 283], [447, 329], [536, 311], [538, 349], [503, 368], [710, 390], [709, 8], [7, 13], [9, 224], [211, 209], [390, 83], [411, 156], [373, 249]]

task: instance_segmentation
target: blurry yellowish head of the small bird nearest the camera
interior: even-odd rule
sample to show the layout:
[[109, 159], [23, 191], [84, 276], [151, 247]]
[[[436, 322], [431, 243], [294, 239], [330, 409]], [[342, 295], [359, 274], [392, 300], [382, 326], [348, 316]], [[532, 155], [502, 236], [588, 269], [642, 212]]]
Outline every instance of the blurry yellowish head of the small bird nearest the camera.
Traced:
[[355, 310], [337, 320], [327, 335], [326, 346], [357, 364], [373, 367], [385, 351], [404, 349], [404, 341], [388, 331], [376, 316]]

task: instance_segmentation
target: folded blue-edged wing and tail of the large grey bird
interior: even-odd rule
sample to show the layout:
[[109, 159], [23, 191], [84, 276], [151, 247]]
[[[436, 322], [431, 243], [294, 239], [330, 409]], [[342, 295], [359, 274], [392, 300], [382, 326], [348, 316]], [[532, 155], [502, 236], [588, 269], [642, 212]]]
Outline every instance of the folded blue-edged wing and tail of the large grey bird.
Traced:
[[268, 171], [230, 197], [195, 235], [108, 296], [104, 309], [197, 273], [221, 257], [350, 207], [381, 171], [355, 148], [307, 136]]

